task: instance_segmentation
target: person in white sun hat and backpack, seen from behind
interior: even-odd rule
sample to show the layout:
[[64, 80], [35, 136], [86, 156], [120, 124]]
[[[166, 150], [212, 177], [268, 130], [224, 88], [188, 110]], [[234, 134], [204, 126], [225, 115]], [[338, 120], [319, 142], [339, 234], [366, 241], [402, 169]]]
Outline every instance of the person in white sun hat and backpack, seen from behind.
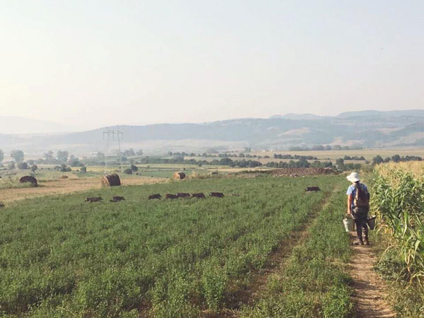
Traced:
[[368, 240], [368, 211], [370, 211], [370, 192], [365, 184], [360, 183], [358, 172], [352, 172], [351, 175], [346, 177], [348, 181], [352, 182], [348, 187], [348, 214], [351, 214], [355, 220], [356, 234], [358, 241], [353, 243], [355, 245], [369, 245]]

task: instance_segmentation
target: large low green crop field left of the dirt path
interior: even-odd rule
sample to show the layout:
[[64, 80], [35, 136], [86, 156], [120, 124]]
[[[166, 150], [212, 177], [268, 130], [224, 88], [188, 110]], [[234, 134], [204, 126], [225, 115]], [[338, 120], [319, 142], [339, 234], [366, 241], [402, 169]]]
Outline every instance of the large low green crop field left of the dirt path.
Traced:
[[[192, 179], [16, 202], [0, 211], [0, 315], [257, 317], [285, 299], [269, 317], [346, 317], [345, 183], [334, 175]], [[305, 192], [308, 186], [322, 192]], [[176, 192], [225, 198], [147, 199]], [[110, 203], [112, 195], [126, 200]], [[86, 196], [104, 201], [89, 204]], [[287, 274], [276, 276], [285, 283], [266, 284], [276, 298], [238, 298], [307, 223], [310, 235], [288, 252]]]

